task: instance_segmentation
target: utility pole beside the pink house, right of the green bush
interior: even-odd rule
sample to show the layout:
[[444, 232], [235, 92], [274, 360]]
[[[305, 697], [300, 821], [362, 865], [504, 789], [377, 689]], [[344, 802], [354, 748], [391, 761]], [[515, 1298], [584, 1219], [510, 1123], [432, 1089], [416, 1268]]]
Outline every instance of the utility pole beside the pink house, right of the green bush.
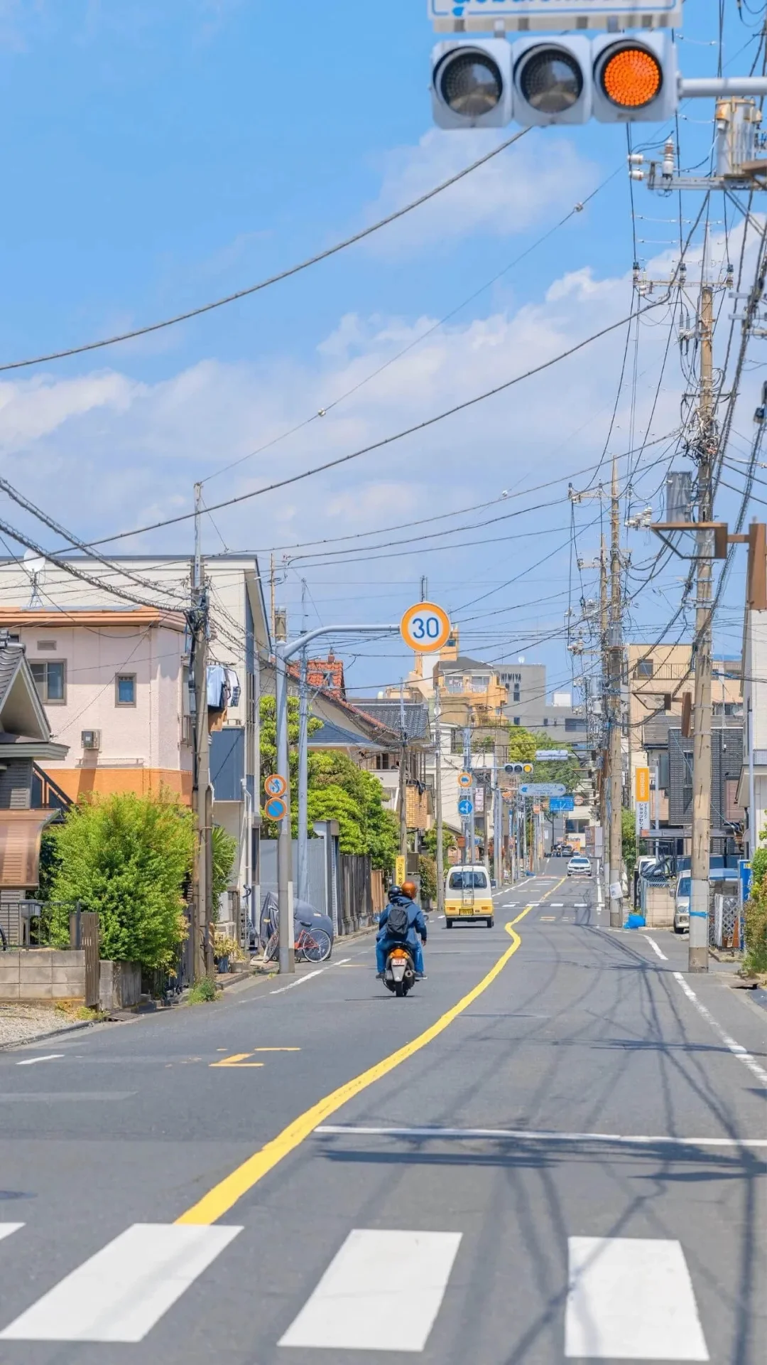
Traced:
[[194, 486], [194, 569], [191, 609], [187, 613], [191, 631], [191, 681], [194, 688], [194, 766], [192, 811], [195, 816], [195, 857], [192, 868], [191, 904], [191, 971], [195, 981], [213, 971], [213, 940], [210, 936], [210, 734], [207, 730], [207, 639], [209, 601], [202, 564], [202, 485]]

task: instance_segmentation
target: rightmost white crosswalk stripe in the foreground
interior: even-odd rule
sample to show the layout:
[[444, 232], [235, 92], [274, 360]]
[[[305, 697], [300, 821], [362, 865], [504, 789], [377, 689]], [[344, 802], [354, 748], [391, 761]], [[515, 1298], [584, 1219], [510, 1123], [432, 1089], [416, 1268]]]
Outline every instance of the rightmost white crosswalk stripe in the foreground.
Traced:
[[708, 1360], [678, 1242], [569, 1237], [568, 1250], [566, 1357]]

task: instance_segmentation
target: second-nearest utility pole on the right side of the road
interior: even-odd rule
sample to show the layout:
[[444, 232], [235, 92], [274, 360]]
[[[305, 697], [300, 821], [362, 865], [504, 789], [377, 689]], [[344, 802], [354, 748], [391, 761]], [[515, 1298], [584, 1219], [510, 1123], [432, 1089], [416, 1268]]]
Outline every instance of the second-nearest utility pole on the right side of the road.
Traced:
[[620, 541], [618, 463], [613, 460], [613, 489], [610, 497], [610, 928], [624, 923], [622, 905], [622, 756], [621, 756], [621, 682], [624, 646], [621, 629], [621, 541]]

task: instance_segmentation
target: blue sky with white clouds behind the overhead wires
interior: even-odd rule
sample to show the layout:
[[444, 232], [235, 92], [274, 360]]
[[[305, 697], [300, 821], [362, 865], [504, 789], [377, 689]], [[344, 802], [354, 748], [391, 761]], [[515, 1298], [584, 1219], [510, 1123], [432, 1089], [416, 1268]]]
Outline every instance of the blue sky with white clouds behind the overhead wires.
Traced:
[[[696, 0], [686, 8], [682, 67], [714, 72], [717, 48], [708, 44], [718, 7]], [[729, 70], [748, 70], [753, 45], [738, 56], [748, 41], [726, 0]], [[0, 358], [111, 334], [254, 283], [495, 145], [508, 132], [431, 128], [431, 42], [422, 0], [0, 3]], [[688, 105], [686, 164], [708, 149], [710, 116], [710, 102]], [[647, 141], [662, 131], [647, 126]], [[538, 130], [403, 224], [285, 284], [142, 341], [0, 375], [3, 472], [78, 534], [104, 535], [186, 511], [194, 479], [242, 460], [362, 381], [328, 418], [218, 474], [206, 500], [322, 463], [504, 382], [629, 313], [625, 152], [620, 127]], [[614, 171], [585, 210], [524, 263], [368, 378]], [[667, 269], [674, 227], [651, 220], [673, 217], [676, 206], [637, 186], [635, 207], [641, 262], [658, 258], [658, 269]], [[696, 197], [686, 197], [685, 217], [696, 212]], [[712, 217], [721, 220], [717, 205]], [[666, 337], [666, 328], [641, 329], [635, 433], [650, 414]], [[614, 333], [426, 437], [217, 513], [218, 530], [206, 521], [206, 547], [263, 550], [459, 513], [504, 489], [519, 493], [575, 474], [602, 453], [622, 343], [624, 333]], [[745, 438], [760, 382], [749, 371], [737, 423]], [[674, 362], [651, 440], [678, 423], [682, 388]], [[626, 384], [610, 452], [628, 448], [629, 397]], [[647, 450], [646, 465], [655, 449], [665, 446]], [[662, 471], [654, 464], [637, 472], [633, 508]], [[295, 613], [303, 573], [311, 624], [360, 613], [396, 618], [427, 573], [430, 595], [465, 620], [467, 650], [543, 659], [550, 682], [561, 685], [569, 672], [561, 640], [535, 642], [561, 628], [568, 591], [577, 606], [581, 586], [573, 573], [568, 587], [565, 485], [547, 498], [553, 505], [494, 531], [456, 534], [454, 550], [415, 556], [405, 546], [355, 565], [295, 561], [280, 595]], [[596, 516], [595, 502], [576, 513], [584, 557], [596, 549], [598, 527], [587, 524]], [[476, 517], [457, 516], [454, 524], [463, 520]], [[487, 543], [512, 531], [517, 539]], [[188, 524], [123, 542], [136, 553], [190, 545]], [[632, 545], [637, 562], [654, 550], [644, 535]], [[540, 568], [530, 568], [549, 551]], [[670, 614], [678, 572], [658, 584], [666, 597], [648, 591], [637, 603], [637, 637]], [[512, 577], [513, 586], [500, 588]], [[733, 576], [733, 601], [738, 583]], [[476, 612], [465, 607], [487, 591]], [[497, 614], [482, 614], [490, 612]], [[396, 646], [368, 647], [349, 680], [384, 685], [404, 666]]]

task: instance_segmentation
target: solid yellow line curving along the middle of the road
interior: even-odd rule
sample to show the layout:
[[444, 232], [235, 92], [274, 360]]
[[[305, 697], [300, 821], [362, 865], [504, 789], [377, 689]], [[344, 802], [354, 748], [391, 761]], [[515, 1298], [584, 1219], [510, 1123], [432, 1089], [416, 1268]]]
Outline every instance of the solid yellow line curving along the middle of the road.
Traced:
[[[355, 1099], [356, 1095], [360, 1095], [362, 1091], [366, 1091], [368, 1085], [374, 1085], [375, 1081], [379, 1081], [384, 1076], [388, 1076], [389, 1072], [394, 1070], [394, 1067], [400, 1066], [403, 1062], [407, 1062], [408, 1058], [415, 1057], [415, 1054], [420, 1052], [423, 1047], [427, 1047], [429, 1043], [434, 1041], [434, 1039], [438, 1037], [439, 1033], [444, 1033], [445, 1029], [449, 1028], [450, 1024], [454, 1020], [457, 1020], [459, 1016], [464, 1013], [464, 1010], [469, 1007], [469, 1005], [474, 1005], [474, 1002], [479, 999], [479, 996], [487, 990], [487, 987], [493, 984], [495, 977], [501, 975], [506, 962], [509, 962], [510, 958], [515, 956], [516, 950], [521, 943], [521, 938], [519, 936], [519, 934], [515, 932], [515, 924], [519, 924], [519, 921], [523, 920], [531, 909], [532, 905], [525, 905], [524, 910], [521, 910], [521, 913], [517, 915], [516, 919], [513, 919], [509, 924], [505, 925], [506, 934], [509, 934], [512, 938], [510, 946], [505, 950], [505, 953], [501, 954], [501, 957], [490, 968], [487, 975], [483, 976], [482, 980], [467, 995], [464, 995], [463, 999], [457, 1002], [457, 1005], [453, 1005], [453, 1007], [449, 1009], [445, 1014], [442, 1014], [435, 1024], [431, 1024], [431, 1026], [424, 1029], [423, 1033], [419, 1033], [418, 1037], [414, 1037], [411, 1043], [405, 1043], [404, 1047], [400, 1047], [397, 1048], [396, 1052], [392, 1052], [389, 1057], [385, 1057], [382, 1062], [377, 1062], [375, 1066], [370, 1066], [366, 1072], [362, 1072], [359, 1076], [355, 1076], [353, 1080], [347, 1081], [344, 1085], [340, 1085], [336, 1091], [332, 1091], [330, 1095], [326, 1095], [323, 1099], [321, 1099], [317, 1104], [313, 1104], [311, 1108], [306, 1110], [304, 1114], [299, 1114], [299, 1117], [295, 1118], [292, 1123], [288, 1123], [288, 1126], [284, 1127], [283, 1132], [277, 1134], [277, 1137], [273, 1137], [270, 1143], [266, 1143], [261, 1148], [261, 1151], [254, 1152], [252, 1156], [248, 1156], [248, 1159], [243, 1162], [242, 1166], [237, 1166], [237, 1168], [233, 1170], [231, 1175], [224, 1177], [224, 1179], [220, 1181], [218, 1185], [214, 1185], [213, 1189], [207, 1192], [207, 1194], [203, 1194], [197, 1204], [192, 1204], [192, 1207], [188, 1208], [186, 1213], [182, 1213], [182, 1216], [176, 1219], [176, 1223], [187, 1223], [187, 1224], [194, 1223], [206, 1227], [210, 1226], [210, 1223], [216, 1223], [217, 1219], [222, 1218], [224, 1213], [229, 1212], [229, 1209], [237, 1203], [239, 1198], [243, 1197], [243, 1194], [247, 1194], [248, 1190], [254, 1188], [254, 1185], [258, 1185], [258, 1182], [263, 1179], [263, 1177], [267, 1175], [269, 1171], [274, 1170], [274, 1167], [285, 1156], [289, 1156], [289, 1153], [293, 1152], [296, 1147], [300, 1147], [300, 1144], [306, 1141], [307, 1137], [311, 1136], [314, 1129], [318, 1127], [321, 1123], [323, 1123], [328, 1118], [330, 1118], [332, 1114], [336, 1114], [337, 1110], [343, 1108], [344, 1104], [348, 1104], [348, 1102]], [[246, 1052], [240, 1055], [250, 1057], [251, 1054]], [[214, 1062], [213, 1065], [242, 1066], [242, 1062], [235, 1063], [231, 1058], [227, 1058], [224, 1062]]]

